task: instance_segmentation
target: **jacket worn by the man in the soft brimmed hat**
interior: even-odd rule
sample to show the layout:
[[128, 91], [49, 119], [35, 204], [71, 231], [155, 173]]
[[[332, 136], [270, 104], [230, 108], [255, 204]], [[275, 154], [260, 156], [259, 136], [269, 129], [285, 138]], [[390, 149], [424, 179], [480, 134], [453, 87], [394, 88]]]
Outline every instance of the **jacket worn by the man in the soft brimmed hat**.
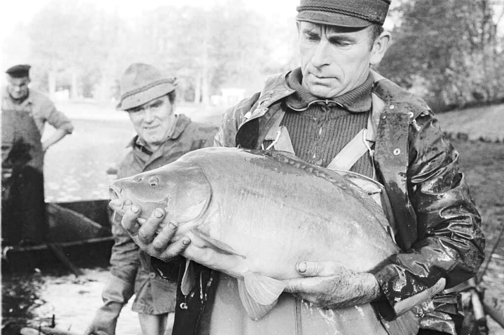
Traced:
[[[184, 115], [178, 115], [174, 132], [155, 152], [146, 152], [145, 148], [132, 142], [131, 151], [119, 165], [117, 177], [130, 177], [145, 171], [156, 169], [173, 162], [184, 153], [208, 147], [213, 144], [217, 127], [191, 122]], [[136, 294], [133, 310], [146, 314], [173, 312], [175, 307], [176, 283], [159, 278], [152, 269], [150, 256], [144, 253], [122, 228], [120, 218], [112, 221], [112, 233], [115, 243], [112, 247], [111, 279], [104, 288], [102, 298], [105, 303], [125, 304]], [[173, 265], [175, 278], [178, 264]]]

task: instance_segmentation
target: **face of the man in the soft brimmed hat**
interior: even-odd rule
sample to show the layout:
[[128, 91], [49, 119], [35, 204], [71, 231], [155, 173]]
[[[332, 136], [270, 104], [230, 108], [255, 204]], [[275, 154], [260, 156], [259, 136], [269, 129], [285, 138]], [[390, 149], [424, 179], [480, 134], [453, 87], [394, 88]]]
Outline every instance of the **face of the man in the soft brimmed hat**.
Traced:
[[170, 135], [176, 120], [173, 109], [165, 95], [128, 110], [135, 131], [151, 149], [155, 150]]

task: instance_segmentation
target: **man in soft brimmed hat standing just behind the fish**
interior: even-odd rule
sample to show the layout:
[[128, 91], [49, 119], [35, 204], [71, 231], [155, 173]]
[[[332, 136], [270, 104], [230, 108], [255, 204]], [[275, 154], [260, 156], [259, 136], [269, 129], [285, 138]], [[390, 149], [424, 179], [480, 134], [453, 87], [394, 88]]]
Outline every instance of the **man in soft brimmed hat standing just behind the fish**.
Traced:
[[[174, 113], [175, 88], [175, 78], [164, 76], [152, 65], [134, 63], [124, 72], [117, 109], [128, 113], [137, 135], [119, 165], [118, 178], [156, 169], [186, 152], [212, 145], [216, 126], [192, 122]], [[111, 279], [103, 290], [104, 305], [85, 334], [114, 334], [120, 310], [133, 294], [133, 310], [139, 313], [142, 332], [170, 334], [168, 313], [175, 311], [179, 263], [169, 266], [170, 280], [161, 279], [151, 266], [150, 256], [122, 228], [120, 217], [112, 219], [112, 233], [115, 244], [110, 259]]]

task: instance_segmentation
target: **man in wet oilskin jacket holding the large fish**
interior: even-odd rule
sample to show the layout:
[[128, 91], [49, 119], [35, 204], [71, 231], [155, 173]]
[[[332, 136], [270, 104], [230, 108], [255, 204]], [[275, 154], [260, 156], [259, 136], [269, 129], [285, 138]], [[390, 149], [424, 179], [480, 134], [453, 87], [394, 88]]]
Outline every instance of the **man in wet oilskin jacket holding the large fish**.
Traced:
[[[239, 276], [182, 263], [174, 332], [460, 332], [463, 314], [457, 294], [448, 290], [478, 271], [484, 258], [481, 219], [459, 172], [458, 152], [428, 106], [370, 69], [390, 44], [382, 28], [389, 5], [389, 0], [301, 0], [296, 17], [301, 67], [269, 77], [262, 92], [228, 110], [215, 145], [289, 151], [311, 172], [317, 166], [337, 171], [369, 195], [380, 194], [377, 202], [388, 213], [385, 229], [400, 250], [366, 271], [309, 255], [298, 259], [292, 264], [297, 275], [284, 281], [285, 293], [258, 321], [246, 317], [254, 310], [245, 313], [234, 303], [247, 301], [235, 285]], [[344, 205], [335, 203], [335, 211]], [[138, 221], [146, 211], [141, 208], [134, 203], [122, 225], [148, 254], [170, 261], [198, 248], [198, 231], [177, 235], [185, 230], [173, 213], [157, 208]], [[233, 254], [215, 236], [208, 235], [207, 242]], [[220, 269], [212, 260], [205, 265]], [[189, 277], [198, 280], [187, 291]], [[376, 315], [365, 309], [370, 303]], [[419, 330], [412, 326], [417, 322], [412, 311], [420, 318]]]

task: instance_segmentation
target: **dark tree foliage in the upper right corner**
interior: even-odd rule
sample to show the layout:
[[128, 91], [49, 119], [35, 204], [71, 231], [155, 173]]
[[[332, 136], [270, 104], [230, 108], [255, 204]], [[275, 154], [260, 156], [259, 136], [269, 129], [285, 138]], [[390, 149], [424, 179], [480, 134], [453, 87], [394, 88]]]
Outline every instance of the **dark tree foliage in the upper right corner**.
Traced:
[[436, 106], [504, 97], [499, 3], [412, 0], [395, 11], [401, 22], [379, 66], [383, 74], [413, 90], [424, 86], [424, 98]]

